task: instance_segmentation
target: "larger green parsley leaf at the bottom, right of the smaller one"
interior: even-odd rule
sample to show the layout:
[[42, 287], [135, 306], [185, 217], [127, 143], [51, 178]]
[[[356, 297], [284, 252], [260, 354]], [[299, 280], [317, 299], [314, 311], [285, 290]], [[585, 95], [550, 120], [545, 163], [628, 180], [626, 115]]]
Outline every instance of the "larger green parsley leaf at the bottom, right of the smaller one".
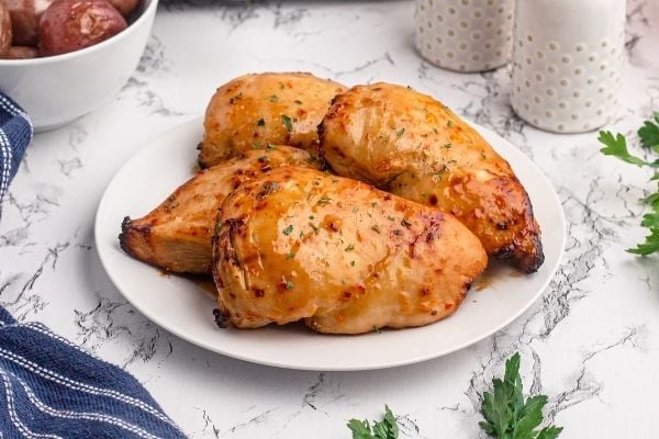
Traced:
[[505, 362], [503, 380], [492, 380], [492, 391], [483, 393], [481, 414], [485, 418], [479, 423], [482, 430], [498, 439], [555, 439], [561, 427], [536, 428], [543, 421], [543, 407], [547, 396], [530, 396], [524, 401], [520, 376], [520, 353]]

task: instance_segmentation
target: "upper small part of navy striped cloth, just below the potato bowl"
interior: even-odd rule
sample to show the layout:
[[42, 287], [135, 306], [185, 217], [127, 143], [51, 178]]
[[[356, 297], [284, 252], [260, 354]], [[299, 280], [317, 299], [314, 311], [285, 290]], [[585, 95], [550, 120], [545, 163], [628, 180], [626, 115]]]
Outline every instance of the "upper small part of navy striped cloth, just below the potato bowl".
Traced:
[[0, 203], [19, 170], [30, 140], [30, 116], [14, 101], [0, 93]]

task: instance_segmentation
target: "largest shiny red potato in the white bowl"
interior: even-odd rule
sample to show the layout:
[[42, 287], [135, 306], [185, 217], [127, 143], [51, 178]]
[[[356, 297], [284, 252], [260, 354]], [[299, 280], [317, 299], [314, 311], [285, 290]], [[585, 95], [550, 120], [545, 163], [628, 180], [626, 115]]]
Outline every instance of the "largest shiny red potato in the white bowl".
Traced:
[[93, 46], [127, 27], [105, 0], [55, 0], [38, 23], [38, 52], [52, 56]]

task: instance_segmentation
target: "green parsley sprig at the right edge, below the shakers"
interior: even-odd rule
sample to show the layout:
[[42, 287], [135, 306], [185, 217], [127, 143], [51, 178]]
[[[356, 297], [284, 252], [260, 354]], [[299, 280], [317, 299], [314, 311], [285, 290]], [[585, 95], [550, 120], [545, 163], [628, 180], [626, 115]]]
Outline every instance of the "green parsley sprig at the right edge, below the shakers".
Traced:
[[[651, 153], [659, 154], [659, 113], [655, 113], [652, 119], [646, 121], [638, 130], [638, 137], [643, 147]], [[600, 132], [597, 140], [604, 145], [600, 149], [606, 156], [614, 156], [618, 159], [638, 167], [649, 167], [655, 170], [651, 181], [659, 182], [659, 159], [648, 161], [640, 157], [633, 156], [627, 149], [627, 140], [622, 134], [613, 135], [607, 131]], [[650, 206], [650, 212], [643, 216], [640, 225], [647, 227], [650, 234], [646, 237], [645, 243], [637, 245], [635, 248], [629, 248], [627, 251], [635, 255], [647, 256], [654, 252], [659, 252], [659, 188], [656, 193], [643, 200]]]

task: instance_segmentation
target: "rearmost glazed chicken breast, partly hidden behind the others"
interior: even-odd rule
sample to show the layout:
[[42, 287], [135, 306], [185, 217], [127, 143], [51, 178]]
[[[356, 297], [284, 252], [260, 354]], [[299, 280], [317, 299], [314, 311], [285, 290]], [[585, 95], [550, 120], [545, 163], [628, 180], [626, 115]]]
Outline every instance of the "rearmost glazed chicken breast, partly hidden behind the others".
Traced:
[[199, 165], [217, 165], [254, 145], [317, 150], [316, 128], [343, 90], [311, 74], [245, 75], [225, 83], [206, 109]]

